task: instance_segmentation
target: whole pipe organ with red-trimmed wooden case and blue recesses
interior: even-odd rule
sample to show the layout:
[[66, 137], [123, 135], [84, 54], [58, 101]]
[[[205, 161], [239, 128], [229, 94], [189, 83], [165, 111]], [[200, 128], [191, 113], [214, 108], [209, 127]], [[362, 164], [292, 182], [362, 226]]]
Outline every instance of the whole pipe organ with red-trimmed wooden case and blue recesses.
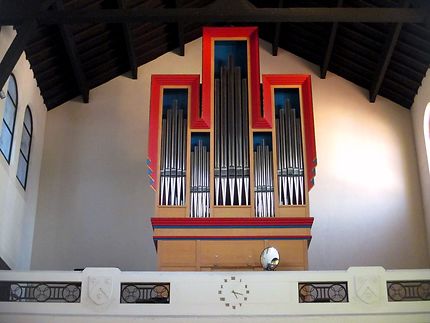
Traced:
[[[199, 75], [153, 75], [148, 174], [159, 270], [307, 269], [309, 75], [263, 75], [256, 27], [203, 29]], [[200, 93], [201, 92], [201, 93]], [[261, 99], [262, 97], [262, 99]]]

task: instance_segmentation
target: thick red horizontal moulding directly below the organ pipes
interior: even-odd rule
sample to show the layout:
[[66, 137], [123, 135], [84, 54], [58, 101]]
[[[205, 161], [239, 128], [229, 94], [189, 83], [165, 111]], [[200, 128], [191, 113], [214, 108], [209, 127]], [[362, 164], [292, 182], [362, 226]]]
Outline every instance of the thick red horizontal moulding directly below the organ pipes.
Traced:
[[151, 218], [152, 226], [312, 226], [314, 218]]

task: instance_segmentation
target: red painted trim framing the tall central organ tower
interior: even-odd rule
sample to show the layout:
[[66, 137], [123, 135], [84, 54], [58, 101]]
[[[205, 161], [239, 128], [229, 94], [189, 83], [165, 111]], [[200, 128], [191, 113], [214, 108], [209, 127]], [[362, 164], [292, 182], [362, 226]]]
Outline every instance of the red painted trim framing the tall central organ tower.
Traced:
[[[202, 116], [210, 120], [213, 106], [213, 40], [228, 40], [246, 38], [249, 41], [249, 79], [251, 97], [251, 118], [253, 127], [269, 128], [266, 117], [260, 112], [260, 61], [257, 27], [204, 27], [203, 28], [203, 57], [202, 57]], [[210, 124], [210, 122], [209, 122]]]

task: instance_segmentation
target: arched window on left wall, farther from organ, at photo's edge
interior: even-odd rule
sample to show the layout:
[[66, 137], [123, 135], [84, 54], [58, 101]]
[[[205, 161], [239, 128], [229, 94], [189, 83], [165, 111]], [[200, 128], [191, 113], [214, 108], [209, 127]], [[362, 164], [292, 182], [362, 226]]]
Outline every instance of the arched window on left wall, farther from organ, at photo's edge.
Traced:
[[5, 100], [3, 122], [0, 125], [0, 151], [9, 163], [12, 152], [13, 132], [15, 130], [16, 110], [18, 107], [18, 90], [16, 87], [16, 79], [13, 74], [11, 74], [8, 79]]

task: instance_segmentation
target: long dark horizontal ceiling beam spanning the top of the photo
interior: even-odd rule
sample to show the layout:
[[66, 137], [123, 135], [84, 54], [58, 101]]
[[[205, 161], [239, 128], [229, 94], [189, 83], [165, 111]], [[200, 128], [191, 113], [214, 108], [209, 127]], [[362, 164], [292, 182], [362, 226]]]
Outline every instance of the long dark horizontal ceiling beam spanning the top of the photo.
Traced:
[[[233, 1], [234, 2], [234, 1]], [[29, 19], [39, 24], [73, 23], [213, 23], [213, 22], [366, 22], [424, 23], [429, 11], [416, 8], [139, 8], [51, 10], [49, 12], [0, 13], [0, 25], [16, 25]], [[230, 10], [231, 9], [231, 10]]]

